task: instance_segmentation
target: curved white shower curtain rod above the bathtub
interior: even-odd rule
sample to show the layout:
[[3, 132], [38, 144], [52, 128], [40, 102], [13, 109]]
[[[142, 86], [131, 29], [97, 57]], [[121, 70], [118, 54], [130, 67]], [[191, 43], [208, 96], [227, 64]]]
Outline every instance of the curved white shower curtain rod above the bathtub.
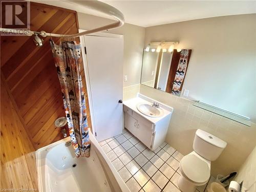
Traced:
[[80, 5], [83, 7], [87, 7], [90, 9], [94, 9], [96, 11], [105, 13], [106, 15], [112, 16], [114, 19], [117, 20], [117, 22], [109, 24], [109, 25], [105, 25], [102, 27], [98, 27], [95, 29], [91, 29], [88, 31], [84, 31], [81, 33], [76, 33], [76, 34], [72, 34], [72, 35], [65, 35], [65, 34], [55, 34], [55, 33], [48, 33], [45, 31], [30, 31], [30, 30], [16, 30], [16, 29], [7, 29], [7, 28], [0, 28], [1, 32], [5, 32], [5, 33], [14, 33], [14, 34], [26, 34], [28, 36], [31, 36], [33, 34], [37, 34], [37, 35], [41, 35], [42, 37], [46, 37], [46, 36], [51, 36], [51, 37], [79, 37], [82, 35], [88, 35], [91, 33], [96, 33], [96, 32], [102, 32], [105, 30], [109, 30], [109, 29], [115, 29], [118, 27], [123, 26], [124, 24], [124, 17], [123, 14], [116, 8], [105, 4], [103, 2], [99, 2], [99, 1], [65, 1], [65, 2], [69, 2], [71, 4], [74, 5]]

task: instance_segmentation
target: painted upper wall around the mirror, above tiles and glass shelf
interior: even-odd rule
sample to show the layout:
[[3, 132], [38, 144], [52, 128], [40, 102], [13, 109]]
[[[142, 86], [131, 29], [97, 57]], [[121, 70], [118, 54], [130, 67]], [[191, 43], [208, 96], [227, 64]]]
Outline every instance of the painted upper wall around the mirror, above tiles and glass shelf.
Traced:
[[183, 89], [189, 98], [256, 122], [256, 14], [213, 17], [147, 27], [151, 41], [192, 49]]

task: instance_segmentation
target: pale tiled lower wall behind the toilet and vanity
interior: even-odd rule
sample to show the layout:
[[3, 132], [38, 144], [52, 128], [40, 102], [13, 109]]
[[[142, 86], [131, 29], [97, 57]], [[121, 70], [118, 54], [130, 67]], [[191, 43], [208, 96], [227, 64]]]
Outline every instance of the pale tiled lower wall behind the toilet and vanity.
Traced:
[[140, 93], [174, 108], [166, 142], [183, 155], [193, 151], [193, 140], [197, 129], [211, 133], [228, 143], [221, 156], [211, 164], [211, 174], [215, 177], [218, 174], [227, 175], [238, 170], [256, 145], [255, 123], [250, 127], [243, 125], [197, 108], [193, 105], [193, 101], [147, 86], [141, 85]]

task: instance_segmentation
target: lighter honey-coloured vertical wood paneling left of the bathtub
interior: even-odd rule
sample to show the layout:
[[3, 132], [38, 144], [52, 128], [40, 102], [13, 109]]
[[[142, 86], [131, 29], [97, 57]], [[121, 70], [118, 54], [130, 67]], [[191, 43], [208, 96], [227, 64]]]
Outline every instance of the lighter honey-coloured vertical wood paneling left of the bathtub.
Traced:
[[35, 150], [1, 79], [1, 189], [37, 189]]

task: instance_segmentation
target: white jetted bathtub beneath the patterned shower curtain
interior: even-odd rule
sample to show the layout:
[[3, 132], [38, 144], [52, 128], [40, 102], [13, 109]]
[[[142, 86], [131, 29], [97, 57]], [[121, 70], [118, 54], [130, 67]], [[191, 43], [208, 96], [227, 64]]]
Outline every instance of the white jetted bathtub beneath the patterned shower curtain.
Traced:
[[40, 192], [129, 192], [111, 161], [90, 132], [91, 156], [76, 158], [65, 138], [36, 151]]

